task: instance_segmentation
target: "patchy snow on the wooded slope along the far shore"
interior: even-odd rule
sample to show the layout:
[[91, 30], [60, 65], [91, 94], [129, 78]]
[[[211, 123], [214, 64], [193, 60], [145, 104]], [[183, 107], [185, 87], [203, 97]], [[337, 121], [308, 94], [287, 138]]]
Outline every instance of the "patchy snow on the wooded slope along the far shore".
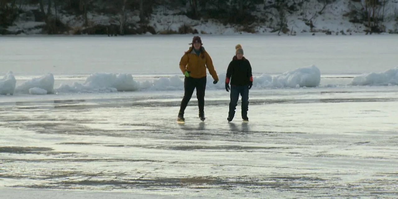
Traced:
[[[362, 0], [363, 1], [363, 0]], [[336, 0], [329, 4], [324, 4], [324, 1], [308, 0], [302, 1], [300, 6], [291, 13], [286, 13], [285, 23], [287, 24], [286, 34], [313, 34], [313, 33], [329, 33], [329, 34], [346, 34], [346, 33], [363, 33], [367, 27], [361, 23], [351, 23], [352, 11], [361, 10], [363, 2], [357, 0]], [[262, 23], [248, 24], [246, 27], [234, 24], [222, 24], [217, 20], [201, 19], [192, 20], [185, 15], [178, 15], [180, 10], [172, 11], [165, 8], [158, 7], [154, 9], [153, 14], [148, 20], [148, 24], [142, 28], [138, 25], [140, 20], [137, 12], [127, 12], [126, 23], [133, 24], [129, 28], [133, 29], [133, 33], [138, 34], [178, 34], [182, 26], [191, 27], [193, 33], [199, 34], [277, 34], [279, 31], [279, 19], [277, 10], [267, 8], [264, 10], [263, 4], [258, 5], [258, 9], [253, 13], [258, 18], [264, 19]], [[20, 15], [14, 25], [8, 27], [9, 33], [16, 34], [38, 34], [41, 33], [44, 22], [37, 22], [34, 19], [32, 10], [39, 10], [39, 6], [25, 6], [23, 9], [26, 13]], [[53, 8], [52, 13], [55, 13]], [[384, 32], [396, 33], [398, 32], [398, 1], [387, 0], [384, 10], [380, 9], [379, 13], [384, 13], [382, 22], [382, 29]], [[73, 16], [66, 14], [66, 12], [58, 11], [59, 20], [70, 27], [70, 31], [63, 32], [64, 34], [85, 33], [84, 19], [82, 16]], [[109, 26], [113, 24], [118, 26], [117, 20], [119, 16], [111, 16], [103, 13], [88, 13], [89, 27], [96, 25]], [[271, 18], [275, 20], [270, 20]], [[310, 21], [312, 27], [310, 27]], [[94, 31], [93, 31], [94, 32]], [[131, 32], [131, 31], [130, 31]], [[283, 33], [282, 33], [283, 34]]]

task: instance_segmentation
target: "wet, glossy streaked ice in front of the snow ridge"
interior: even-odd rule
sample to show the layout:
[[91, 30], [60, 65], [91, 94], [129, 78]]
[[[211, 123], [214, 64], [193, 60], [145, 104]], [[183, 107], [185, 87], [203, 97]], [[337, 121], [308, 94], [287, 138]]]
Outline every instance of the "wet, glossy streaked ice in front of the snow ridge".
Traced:
[[393, 198], [396, 87], [315, 89], [251, 90], [249, 123], [218, 90], [185, 124], [181, 91], [0, 99], [0, 198]]

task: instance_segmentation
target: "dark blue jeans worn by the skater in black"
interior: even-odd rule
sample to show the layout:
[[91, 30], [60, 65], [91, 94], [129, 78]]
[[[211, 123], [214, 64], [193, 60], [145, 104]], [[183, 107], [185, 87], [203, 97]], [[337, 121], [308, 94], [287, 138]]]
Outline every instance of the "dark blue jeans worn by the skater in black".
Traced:
[[229, 103], [229, 118], [234, 118], [236, 105], [238, 105], [239, 95], [242, 96], [242, 119], [247, 119], [249, 109], [249, 86], [234, 86], [231, 85], [230, 103]]

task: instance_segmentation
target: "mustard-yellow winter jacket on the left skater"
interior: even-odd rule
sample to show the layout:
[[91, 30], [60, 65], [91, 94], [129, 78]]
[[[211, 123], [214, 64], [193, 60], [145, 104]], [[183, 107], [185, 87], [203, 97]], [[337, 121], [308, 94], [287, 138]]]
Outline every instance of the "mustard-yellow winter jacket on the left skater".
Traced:
[[206, 76], [206, 68], [214, 80], [219, 80], [216, 71], [214, 70], [213, 61], [210, 55], [201, 47], [199, 56], [196, 55], [192, 47], [184, 53], [179, 61], [179, 68], [184, 73], [185, 70], [190, 72], [189, 76], [193, 78], [202, 78]]

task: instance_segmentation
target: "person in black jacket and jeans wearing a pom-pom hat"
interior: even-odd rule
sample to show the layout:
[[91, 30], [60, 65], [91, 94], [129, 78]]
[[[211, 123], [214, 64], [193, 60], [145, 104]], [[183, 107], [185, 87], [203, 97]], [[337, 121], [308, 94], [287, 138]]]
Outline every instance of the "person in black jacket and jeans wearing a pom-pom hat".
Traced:
[[[239, 94], [242, 96], [242, 119], [249, 121], [249, 89], [253, 86], [252, 66], [249, 60], [243, 57], [243, 49], [240, 44], [235, 46], [235, 56], [228, 65], [225, 78], [225, 90], [230, 93], [228, 122], [232, 121], [238, 105]], [[229, 86], [231, 84], [231, 87]]]

